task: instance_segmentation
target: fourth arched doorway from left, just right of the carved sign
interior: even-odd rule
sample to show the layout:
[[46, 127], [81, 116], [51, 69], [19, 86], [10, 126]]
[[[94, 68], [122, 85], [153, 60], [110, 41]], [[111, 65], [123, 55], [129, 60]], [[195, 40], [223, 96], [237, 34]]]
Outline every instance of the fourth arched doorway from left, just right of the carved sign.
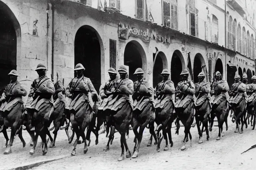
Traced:
[[163, 77], [160, 75], [164, 68], [168, 68], [167, 58], [165, 54], [160, 51], [156, 58], [153, 68], [153, 88], [157, 86], [163, 80]]

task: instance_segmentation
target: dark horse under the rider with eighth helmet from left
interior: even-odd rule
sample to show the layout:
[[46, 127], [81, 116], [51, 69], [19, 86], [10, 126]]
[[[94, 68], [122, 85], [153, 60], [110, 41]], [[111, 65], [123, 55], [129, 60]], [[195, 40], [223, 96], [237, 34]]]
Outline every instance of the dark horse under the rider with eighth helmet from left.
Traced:
[[[184, 108], [175, 108], [175, 111], [177, 113], [177, 129], [176, 129], [176, 133], [179, 134], [179, 128], [180, 128], [180, 123], [179, 121], [181, 121], [181, 123], [184, 125], [184, 132], [185, 132], [185, 137], [183, 139], [183, 143], [184, 145], [181, 147], [181, 150], [185, 150], [186, 149], [186, 142], [188, 141], [188, 135], [190, 138], [190, 146], [191, 146], [191, 140], [192, 140], [192, 135], [190, 133], [190, 128], [191, 125], [193, 124], [194, 121], [194, 112], [195, 112], [195, 104], [194, 101], [191, 101], [188, 106], [184, 109]], [[200, 131], [200, 129], [199, 129]]]

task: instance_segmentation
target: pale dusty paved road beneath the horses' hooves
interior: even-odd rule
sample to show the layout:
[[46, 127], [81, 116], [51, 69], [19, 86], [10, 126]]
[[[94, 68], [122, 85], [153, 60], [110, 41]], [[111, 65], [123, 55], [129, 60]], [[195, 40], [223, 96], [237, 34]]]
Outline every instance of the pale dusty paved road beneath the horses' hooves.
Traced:
[[[217, 125], [217, 122], [214, 123]], [[224, 125], [225, 127], [225, 125]], [[225, 128], [224, 128], [225, 129]], [[60, 130], [57, 136], [56, 148], [49, 148], [45, 156], [42, 155], [40, 144], [36, 147], [34, 155], [29, 155], [30, 146], [27, 144], [22, 148], [18, 136], [14, 139], [12, 154], [1, 156], [0, 169], [12, 169], [25, 165], [30, 165], [42, 161], [52, 162], [41, 164], [37, 167], [30, 167], [33, 170], [63, 170], [63, 169], [256, 169], [256, 149], [246, 153], [241, 153], [252, 145], [256, 144], [256, 131], [249, 126], [243, 134], [234, 133], [235, 124], [229, 118], [229, 129], [225, 131], [225, 136], [217, 141], [218, 128], [213, 127], [210, 132], [210, 139], [206, 141], [206, 134], [203, 134], [203, 143], [198, 144], [197, 129], [192, 128], [192, 147], [187, 144], [187, 149], [181, 151], [184, 128], [180, 128], [180, 134], [176, 135], [172, 128], [172, 138], [174, 145], [168, 151], [163, 151], [165, 142], [162, 141], [161, 151], [156, 151], [156, 146], [147, 147], [149, 131], [146, 129], [143, 134], [140, 154], [138, 158], [125, 158], [119, 162], [117, 158], [121, 154], [120, 135], [115, 133], [113, 145], [110, 151], [104, 152], [103, 148], [108, 138], [105, 134], [100, 134], [99, 144], [94, 143], [95, 136], [92, 134], [92, 143], [86, 154], [83, 153], [83, 144], [78, 145], [77, 155], [70, 156], [73, 149], [72, 144], [68, 144], [64, 130]], [[10, 134], [10, 132], [9, 132]], [[29, 135], [23, 131], [25, 141], [30, 141]], [[127, 139], [128, 146], [132, 151], [134, 134], [130, 131]], [[0, 134], [1, 152], [4, 148], [4, 137]], [[40, 140], [38, 140], [40, 141]], [[49, 145], [49, 144], [48, 144]], [[29, 169], [29, 168], [28, 168]]]

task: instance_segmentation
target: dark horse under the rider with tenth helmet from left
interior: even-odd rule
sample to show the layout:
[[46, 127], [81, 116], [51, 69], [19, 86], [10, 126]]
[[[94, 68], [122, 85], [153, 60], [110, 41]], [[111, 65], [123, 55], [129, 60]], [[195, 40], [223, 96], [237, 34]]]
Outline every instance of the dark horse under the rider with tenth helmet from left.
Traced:
[[228, 130], [228, 113], [229, 113], [229, 106], [226, 99], [220, 102], [220, 104], [216, 107], [215, 113], [211, 113], [211, 124], [209, 130], [212, 131], [213, 121], [215, 116], [218, 120], [218, 127], [219, 127], [219, 134], [216, 140], [220, 140], [220, 134], [223, 130], [223, 124], [226, 123], [226, 131]]

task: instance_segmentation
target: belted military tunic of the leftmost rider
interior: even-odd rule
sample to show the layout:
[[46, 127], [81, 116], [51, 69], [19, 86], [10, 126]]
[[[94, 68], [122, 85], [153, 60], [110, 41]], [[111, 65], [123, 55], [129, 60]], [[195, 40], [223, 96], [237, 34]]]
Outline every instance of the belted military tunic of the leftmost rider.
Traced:
[[22, 101], [22, 96], [26, 96], [27, 91], [18, 81], [10, 83], [6, 86], [0, 101], [4, 101], [0, 107], [0, 111], [10, 112], [17, 104], [22, 104], [22, 109], [24, 108], [24, 102]]

